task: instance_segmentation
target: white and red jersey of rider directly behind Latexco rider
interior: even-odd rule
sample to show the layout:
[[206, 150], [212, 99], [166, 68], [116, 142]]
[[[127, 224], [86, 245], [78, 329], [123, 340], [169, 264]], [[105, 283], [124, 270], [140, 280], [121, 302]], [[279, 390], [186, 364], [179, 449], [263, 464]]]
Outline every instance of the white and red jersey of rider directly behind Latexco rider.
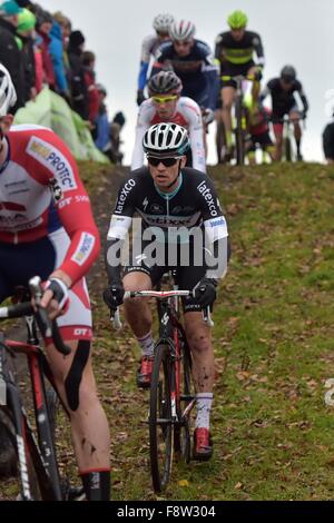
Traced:
[[[141, 103], [136, 128], [131, 170], [139, 169], [144, 165], [143, 138], [145, 132], [150, 126], [161, 124], [163, 121], [165, 120], [158, 116], [151, 99]], [[206, 172], [203, 120], [199, 106], [196, 101], [188, 97], [180, 97], [177, 101], [174, 116], [166, 121], [178, 124], [188, 130], [193, 154], [193, 168]]]

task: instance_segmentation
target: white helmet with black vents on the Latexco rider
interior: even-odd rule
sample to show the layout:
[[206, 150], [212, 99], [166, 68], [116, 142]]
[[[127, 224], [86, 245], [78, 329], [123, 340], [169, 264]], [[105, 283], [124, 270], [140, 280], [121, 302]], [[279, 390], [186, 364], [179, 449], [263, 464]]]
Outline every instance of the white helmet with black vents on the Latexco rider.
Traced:
[[190, 147], [188, 131], [177, 124], [156, 124], [145, 134], [143, 148], [158, 158], [184, 156]]

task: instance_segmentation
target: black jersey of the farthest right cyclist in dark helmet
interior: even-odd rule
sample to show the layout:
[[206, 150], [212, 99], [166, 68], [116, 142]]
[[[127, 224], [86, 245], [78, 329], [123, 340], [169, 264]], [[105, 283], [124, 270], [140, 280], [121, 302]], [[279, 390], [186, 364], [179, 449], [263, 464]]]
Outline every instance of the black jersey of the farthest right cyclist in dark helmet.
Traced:
[[281, 78], [273, 78], [265, 90], [262, 92], [259, 99], [264, 100], [268, 95], [272, 96], [272, 106], [273, 106], [273, 118], [287, 115], [296, 105], [295, 92], [301, 97], [301, 100], [304, 106], [304, 111], [308, 110], [308, 101], [305, 96], [302, 83], [298, 80], [295, 80], [288, 91], [284, 90], [282, 87]]

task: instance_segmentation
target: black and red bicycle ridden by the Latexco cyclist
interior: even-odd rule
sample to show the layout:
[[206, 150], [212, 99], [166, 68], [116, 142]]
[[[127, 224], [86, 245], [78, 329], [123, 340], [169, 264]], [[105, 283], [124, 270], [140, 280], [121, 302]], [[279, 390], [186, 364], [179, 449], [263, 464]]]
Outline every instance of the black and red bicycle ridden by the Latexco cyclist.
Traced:
[[[157, 299], [159, 339], [155, 345], [149, 401], [149, 454], [154, 491], [160, 493], [169, 482], [174, 453], [185, 463], [191, 458], [190, 414], [196, 403], [191, 353], [180, 323], [179, 298], [189, 290], [127, 292], [125, 299]], [[204, 320], [213, 325], [209, 309]], [[115, 326], [120, 327], [118, 312]]]

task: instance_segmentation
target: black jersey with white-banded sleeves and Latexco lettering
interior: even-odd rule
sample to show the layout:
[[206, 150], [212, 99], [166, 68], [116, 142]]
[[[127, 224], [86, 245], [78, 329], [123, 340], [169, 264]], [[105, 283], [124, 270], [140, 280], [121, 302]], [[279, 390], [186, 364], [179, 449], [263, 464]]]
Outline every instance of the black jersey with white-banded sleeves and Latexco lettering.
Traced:
[[[108, 249], [126, 238], [135, 214], [141, 218], [141, 237], [147, 238], [147, 233], [153, 233], [155, 238], [163, 243], [164, 248], [173, 243], [178, 246], [189, 243], [190, 247], [194, 247], [196, 246], [194, 237], [185, 231], [200, 230], [205, 233], [200, 236], [200, 241], [203, 241], [199, 245], [200, 249], [204, 246], [204, 238], [208, 238], [210, 251], [216, 256], [218, 249], [222, 248], [222, 241], [225, 240], [226, 251], [223, 256], [226, 256], [227, 264], [226, 219], [216, 189], [207, 175], [185, 168], [179, 176], [177, 188], [174, 193], [166, 194], [156, 187], [147, 167], [131, 172], [118, 193], [108, 233]], [[107, 260], [109, 283], [112, 285], [120, 279], [120, 267], [115, 267], [108, 258]], [[132, 264], [130, 270], [147, 272], [147, 267], [143, 267], [141, 262], [143, 259], [135, 266]], [[185, 267], [183, 268], [185, 270]], [[202, 268], [204, 276], [206, 266]], [[222, 274], [217, 277], [220, 276]]]

